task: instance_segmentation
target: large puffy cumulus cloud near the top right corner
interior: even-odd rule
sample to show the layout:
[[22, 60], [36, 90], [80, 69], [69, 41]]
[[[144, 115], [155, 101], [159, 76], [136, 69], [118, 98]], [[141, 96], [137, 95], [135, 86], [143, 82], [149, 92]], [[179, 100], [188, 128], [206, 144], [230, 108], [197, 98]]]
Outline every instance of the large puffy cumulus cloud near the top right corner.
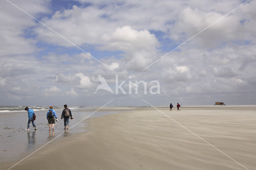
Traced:
[[[230, 2], [230, 4], [232, 3]], [[255, 6], [255, 2], [245, 4], [240, 8], [240, 12], [246, 12], [246, 9], [250, 8], [250, 5]], [[232, 6], [236, 8], [239, 4], [233, 3]], [[187, 6], [178, 14], [177, 22], [175, 22], [172, 32], [170, 32], [170, 37], [174, 40], [178, 40], [178, 42], [180, 42], [180, 40], [188, 40], [233, 9], [231, 8], [224, 12], [219, 10], [219, 8], [205, 10], [204, 8], [200, 9]], [[199, 42], [202, 47], [213, 48], [224, 43], [233, 43], [234, 41], [243, 43], [244, 41], [253, 40], [252, 37], [255, 36], [254, 32], [247, 32], [245, 30], [251, 29], [248, 25], [252, 24], [252, 22], [255, 24], [255, 20], [252, 19], [254, 14], [250, 13], [245, 16], [236, 15], [236, 12], [237, 11], [222, 18], [214, 25], [204, 30], [196, 36], [192, 42], [194, 44], [198, 44]], [[237, 34], [238, 32], [239, 34]]]

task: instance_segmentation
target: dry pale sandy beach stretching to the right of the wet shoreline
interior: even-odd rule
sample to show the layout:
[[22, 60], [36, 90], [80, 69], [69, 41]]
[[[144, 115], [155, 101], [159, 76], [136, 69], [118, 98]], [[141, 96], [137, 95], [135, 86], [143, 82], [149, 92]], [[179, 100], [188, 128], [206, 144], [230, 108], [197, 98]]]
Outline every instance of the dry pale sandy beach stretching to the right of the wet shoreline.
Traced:
[[103, 109], [119, 113], [88, 118], [86, 130], [1, 169], [31, 153], [12, 169], [256, 169], [256, 106]]

